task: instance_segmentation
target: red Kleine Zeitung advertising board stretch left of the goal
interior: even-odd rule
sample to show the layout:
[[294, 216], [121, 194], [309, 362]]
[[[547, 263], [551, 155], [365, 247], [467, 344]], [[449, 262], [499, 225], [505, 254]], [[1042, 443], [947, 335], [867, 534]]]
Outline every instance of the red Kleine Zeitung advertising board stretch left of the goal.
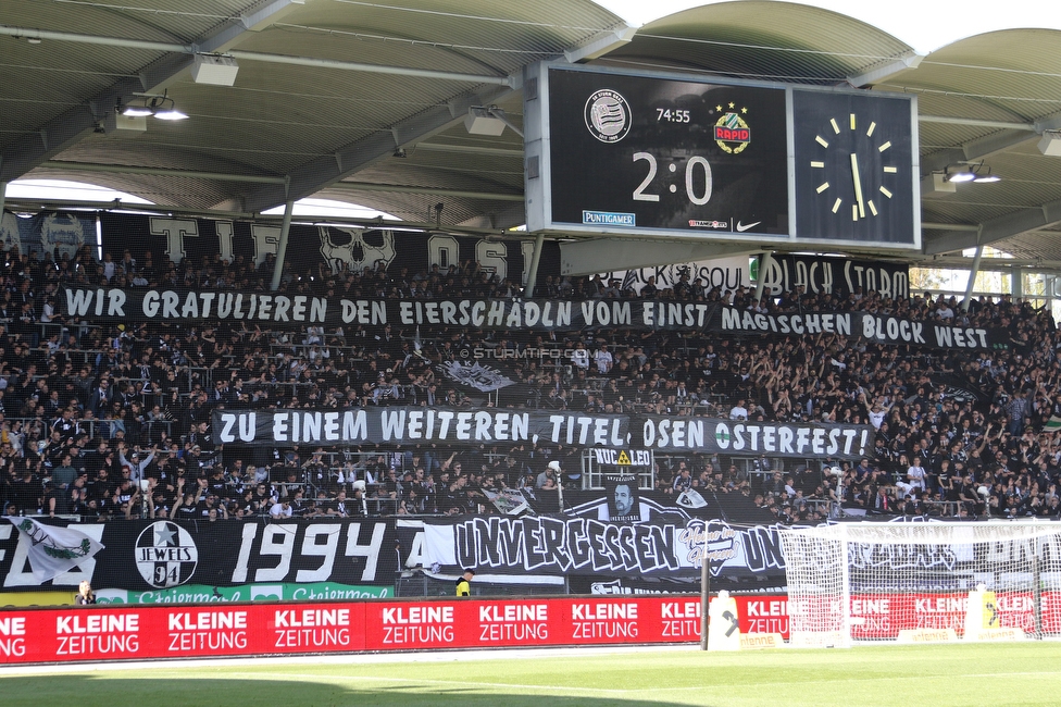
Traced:
[[699, 621], [659, 596], [12, 609], [0, 662], [677, 643]]

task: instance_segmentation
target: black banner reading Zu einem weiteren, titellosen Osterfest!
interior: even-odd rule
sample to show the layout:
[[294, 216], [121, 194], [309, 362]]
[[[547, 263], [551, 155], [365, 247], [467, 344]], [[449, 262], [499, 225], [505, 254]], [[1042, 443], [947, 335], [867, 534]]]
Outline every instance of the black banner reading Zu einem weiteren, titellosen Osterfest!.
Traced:
[[869, 425], [746, 422], [717, 418], [370, 407], [339, 410], [213, 411], [214, 442], [234, 446], [522, 443], [644, 447], [658, 451], [860, 457]]

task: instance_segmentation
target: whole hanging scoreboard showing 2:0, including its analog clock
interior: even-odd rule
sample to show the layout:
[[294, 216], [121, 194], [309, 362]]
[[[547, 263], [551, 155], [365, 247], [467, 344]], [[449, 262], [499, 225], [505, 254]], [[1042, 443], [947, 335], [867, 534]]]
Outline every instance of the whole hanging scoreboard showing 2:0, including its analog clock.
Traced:
[[916, 100], [535, 64], [527, 228], [921, 247]]

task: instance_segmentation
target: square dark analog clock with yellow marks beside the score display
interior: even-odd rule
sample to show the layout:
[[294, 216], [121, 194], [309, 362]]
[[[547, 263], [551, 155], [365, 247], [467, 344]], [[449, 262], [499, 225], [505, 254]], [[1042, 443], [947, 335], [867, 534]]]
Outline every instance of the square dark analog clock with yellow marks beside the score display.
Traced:
[[799, 238], [914, 245], [911, 103], [794, 91]]

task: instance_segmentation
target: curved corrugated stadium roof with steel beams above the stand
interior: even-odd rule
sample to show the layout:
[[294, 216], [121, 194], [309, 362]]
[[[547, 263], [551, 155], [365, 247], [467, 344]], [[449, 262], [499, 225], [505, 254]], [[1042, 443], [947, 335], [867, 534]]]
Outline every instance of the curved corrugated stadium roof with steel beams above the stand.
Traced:
[[[637, 30], [588, 0], [5, 0], [0, 46], [0, 182], [247, 214], [316, 196], [465, 228], [524, 222], [521, 138], [470, 135], [463, 119], [496, 104], [519, 126], [522, 69], [538, 60], [913, 92], [924, 257], [981, 243], [1061, 268], [1061, 158], [1038, 147], [1061, 128], [1052, 29], [921, 57], [858, 20], [754, 0]], [[192, 78], [204, 54], [235, 60], [234, 86]], [[190, 119], [118, 125], [118, 106], [161, 97]], [[979, 163], [1002, 182], [932, 188], [933, 173]]]

